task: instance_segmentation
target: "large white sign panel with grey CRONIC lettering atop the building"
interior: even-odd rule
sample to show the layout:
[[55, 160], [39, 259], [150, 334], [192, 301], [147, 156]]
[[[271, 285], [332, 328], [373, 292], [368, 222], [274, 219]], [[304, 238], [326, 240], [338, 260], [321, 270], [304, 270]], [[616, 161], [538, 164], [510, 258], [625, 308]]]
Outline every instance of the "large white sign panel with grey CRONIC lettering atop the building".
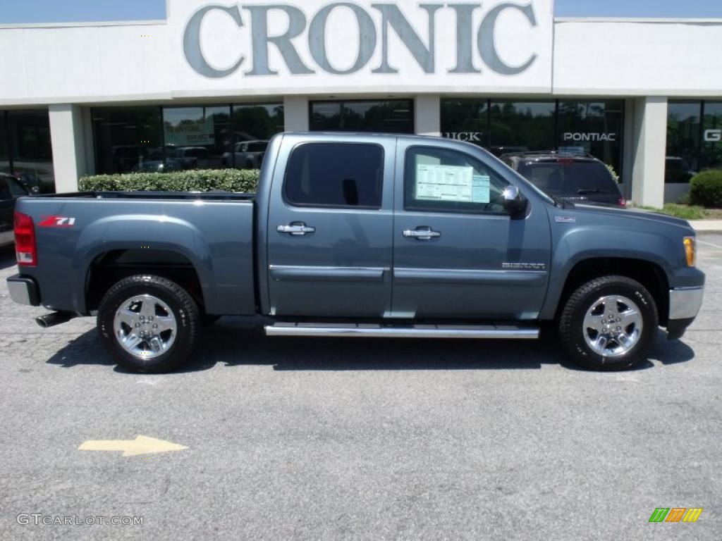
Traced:
[[551, 89], [551, 0], [178, 0], [170, 9], [181, 89], [193, 74], [218, 89]]

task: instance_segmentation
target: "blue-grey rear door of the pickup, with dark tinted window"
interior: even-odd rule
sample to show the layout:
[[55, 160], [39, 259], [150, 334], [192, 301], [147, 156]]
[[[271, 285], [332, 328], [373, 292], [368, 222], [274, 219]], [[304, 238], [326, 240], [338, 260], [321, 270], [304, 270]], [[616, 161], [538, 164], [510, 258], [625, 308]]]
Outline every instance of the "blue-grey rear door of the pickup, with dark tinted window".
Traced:
[[271, 184], [271, 315], [391, 309], [395, 139], [286, 136]]

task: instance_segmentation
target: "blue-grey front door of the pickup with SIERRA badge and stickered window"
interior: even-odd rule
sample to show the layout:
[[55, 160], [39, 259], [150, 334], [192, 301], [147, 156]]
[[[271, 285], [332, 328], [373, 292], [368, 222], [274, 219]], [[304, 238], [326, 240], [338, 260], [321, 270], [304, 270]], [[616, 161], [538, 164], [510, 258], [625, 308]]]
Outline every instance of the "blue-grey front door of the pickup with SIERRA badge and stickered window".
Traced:
[[[547, 291], [551, 238], [536, 200], [503, 206], [509, 182], [484, 155], [399, 141], [393, 225], [394, 317], [531, 320]], [[488, 158], [486, 158], [488, 159]], [[500, 168], [500, 166], [497, 165]]]

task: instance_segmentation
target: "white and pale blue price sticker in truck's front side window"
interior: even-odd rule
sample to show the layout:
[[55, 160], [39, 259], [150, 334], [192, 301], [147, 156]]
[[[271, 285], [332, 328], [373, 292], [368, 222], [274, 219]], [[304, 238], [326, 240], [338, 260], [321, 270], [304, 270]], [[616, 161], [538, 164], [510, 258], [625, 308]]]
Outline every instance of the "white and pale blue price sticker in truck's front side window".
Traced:
[[[484, 196], [483, 178], [479, 177], [479, 198]], [[488, 201], [489, 177], [486, 177], [486, 182]], [[461, 203], [476, 201], [474, 199], [474, 167], [417, 164], [415, 197], [419, 201], [458, 201]]]

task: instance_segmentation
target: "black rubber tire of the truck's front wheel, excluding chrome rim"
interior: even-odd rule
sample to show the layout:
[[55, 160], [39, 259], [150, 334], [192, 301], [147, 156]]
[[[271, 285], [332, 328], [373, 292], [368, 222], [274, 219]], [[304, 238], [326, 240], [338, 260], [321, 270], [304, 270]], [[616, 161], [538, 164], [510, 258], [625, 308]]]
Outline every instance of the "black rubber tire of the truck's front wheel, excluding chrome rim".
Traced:
[[[642, 318], [642, 331], [637, 343], [620, 356], [603, 356], [593, 351], [584, 338], [583, 322], [587, 310], [603, 296], [624, 296], [637, 304]], [[571, 294], [562, 310], [559, 336], [562, 347], [576, 364], [600, 371], [631, 369], [645, 361], [658, 327], [654, 297], [638, 281], [626, 276], [601, 276], [580, 286]], [[594, 335], [592, 335], [594, 336]]]

